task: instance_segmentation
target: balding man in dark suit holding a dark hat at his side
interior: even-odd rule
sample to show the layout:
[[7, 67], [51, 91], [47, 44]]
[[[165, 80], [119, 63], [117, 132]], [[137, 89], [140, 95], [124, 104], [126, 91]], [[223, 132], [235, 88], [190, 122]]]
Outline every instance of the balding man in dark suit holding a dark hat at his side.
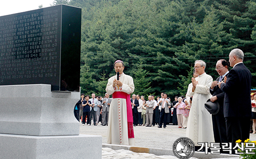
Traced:
[[217, 86], [218, 82], [221, 82], [225, 76], [229, 75], [229, 64], [226, 60], [221, 59], [216, 63], [216, 69], [220, 75], [216, 81], [211, 84], [210, 93], [213, 95], [211, 97], [211, 102], [217, 101], [220, 105], [219, 112], [215, 115], [212, 114], [212, 124], [213, 124], [213, 134], [216, 143], [227, 143], [227, 130], [226, 123], [223, 113], [223, 104], [225, 93]]

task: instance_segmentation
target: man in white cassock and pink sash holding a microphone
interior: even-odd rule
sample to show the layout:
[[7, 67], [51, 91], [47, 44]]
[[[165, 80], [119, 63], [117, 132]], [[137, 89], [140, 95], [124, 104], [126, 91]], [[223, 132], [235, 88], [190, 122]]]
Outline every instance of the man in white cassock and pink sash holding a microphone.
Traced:
[[110, 77], [106, 88], [107, 93], [113, 95], [109, 107], [107, 143], [133, 146], [135, 141], [130, 102], [130, 94], [134, 92], [133, 78], [122, 72], [124, 66], [120, 60], [114, 66], [120, 76], [119, 81], [116, 80], [117, 76]]

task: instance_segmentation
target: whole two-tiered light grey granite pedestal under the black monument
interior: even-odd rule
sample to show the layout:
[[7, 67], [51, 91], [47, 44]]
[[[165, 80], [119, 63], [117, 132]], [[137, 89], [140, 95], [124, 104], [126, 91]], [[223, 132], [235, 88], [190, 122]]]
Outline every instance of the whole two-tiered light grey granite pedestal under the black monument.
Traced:
[[101, 159], [101, 136], [79, 135], [80, 92], [0, 86], [0, 159]]

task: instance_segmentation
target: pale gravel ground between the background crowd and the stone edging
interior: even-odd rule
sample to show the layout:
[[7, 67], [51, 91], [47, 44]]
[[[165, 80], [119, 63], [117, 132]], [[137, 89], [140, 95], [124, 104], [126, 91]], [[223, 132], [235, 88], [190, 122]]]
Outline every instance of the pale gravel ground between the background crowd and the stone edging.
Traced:
[[[82, 126], [80, 134], [101, 135], [102, 143], [107, 144], [107, 126]], [[164, 128], [136, 126], [134, 127], [135, 146], [172, 149], [175, 140], [186, 136], [186, 129], [177, 125], [167, 125]], [[256, 134], [250, 134], [250, 140], [256, 140]]]

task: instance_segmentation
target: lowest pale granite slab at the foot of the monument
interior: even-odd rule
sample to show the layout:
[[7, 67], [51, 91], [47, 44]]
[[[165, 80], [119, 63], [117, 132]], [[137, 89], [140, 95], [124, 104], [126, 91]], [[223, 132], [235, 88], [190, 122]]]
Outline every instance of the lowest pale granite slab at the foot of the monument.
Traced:
[[0, 159], [101, 159], [101, 136], [0, 134]]

